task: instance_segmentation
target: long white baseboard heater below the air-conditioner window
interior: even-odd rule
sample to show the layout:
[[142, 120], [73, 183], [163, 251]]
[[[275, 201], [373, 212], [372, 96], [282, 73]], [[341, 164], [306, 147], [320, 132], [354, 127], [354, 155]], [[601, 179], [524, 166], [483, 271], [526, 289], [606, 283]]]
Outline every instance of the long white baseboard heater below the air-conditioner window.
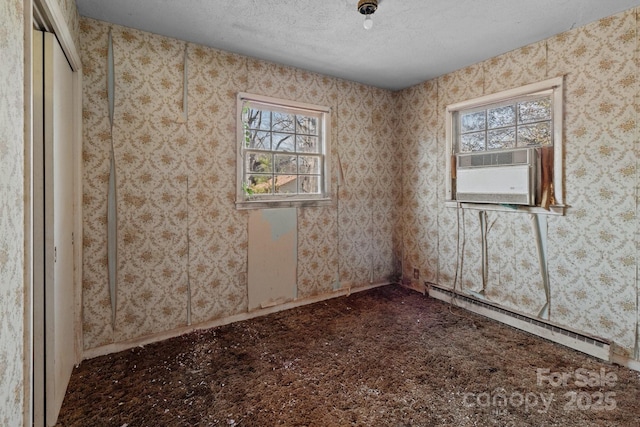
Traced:
[[505, 323], [516, 329], [529, 332], [549, 341], [562, 344], [574, 350], [581, 351], [599, 359], [606, 360], [608, 362], [611, 361], [613, 351], [612, 345], [603, 339], [559, 327], [546, 321], [525, 316], [511, 310], [506, 310], [499, 305], [462, 295], [458, 292], [454, 293], [449, 289], [441, 288], [439, 286], [431, 285], [429, 288], [429, 296], [449, 303], [453, 302], [455, 298], [456, 305], [461, 308], [490, 319], [497, 320], [498, 322]]

